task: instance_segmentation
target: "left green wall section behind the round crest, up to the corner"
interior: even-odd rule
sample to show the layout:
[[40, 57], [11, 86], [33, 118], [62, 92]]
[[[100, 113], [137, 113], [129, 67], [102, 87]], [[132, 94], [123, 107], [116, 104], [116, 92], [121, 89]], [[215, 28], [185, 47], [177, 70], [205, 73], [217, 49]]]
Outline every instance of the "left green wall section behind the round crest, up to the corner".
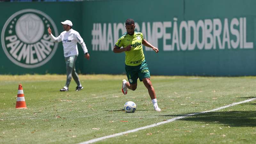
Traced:
[[[68, 2], [33, 2], [33, 3], [1, 3], [0, 4], [0, 12], [1, 20], [0, 20], [0, 31], [2, 32], [2, 28], [4, 27], [7, 19], [20, 10], [24, 9], [36, 9], [47, 14], [51, 19], [55, 22], [56, 27], [58, 29], [58, 34], [54, 34], [58, 36], [60, 32], [63, 31], [63, 28], [60, 24], [61, 21], [66, 19], [71, 20], [74, 23], [73, 28], [82, 33], [83, 24], [81, 22], [81, 15], [83, 8], [81, 6], [82, 3], [68, 3]], [[72, 8], [72, 10], [68, 11], [68, 9]], [[4, 13], [4, 14], [3, 14]], [[47, 33], [45, 28], [45, 33]], [[58, 48], [54, 53], [53, 57], [44, 65], [37, 68], [23, 68], [16, 64], [14, 64], [11, 60], [7, 58], [3, 49], [2, 42], [0, 48], [0, 74], [45, 74], [45, 73], [57, 73], [57, 74], [65, 74], [66, 73], [66, 64], [63, 56], [63, 47], [62, 43], [58, 44]], [[80, 51], [79, 51], [80, 52]], [[83, 52], [83, 51], [82, 51]], [[83, 60], [78, 60], [76, 65], [81, 66]], [[81, 70], [80, 70], [81, 71]]]

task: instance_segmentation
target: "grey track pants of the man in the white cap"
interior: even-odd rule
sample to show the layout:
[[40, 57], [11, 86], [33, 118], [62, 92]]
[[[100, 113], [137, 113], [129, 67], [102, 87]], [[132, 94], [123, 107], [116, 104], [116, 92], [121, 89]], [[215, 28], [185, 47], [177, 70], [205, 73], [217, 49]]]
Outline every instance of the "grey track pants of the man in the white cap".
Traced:
[[76, 58], [77, 58], [76, 55], [65, 57], [66, 68], [67, 68], [67, 82], [65, 86], [67, 87], [69, 86], [72, 77], [74, 78], [77, 85], [81, 84], [75, 68]]

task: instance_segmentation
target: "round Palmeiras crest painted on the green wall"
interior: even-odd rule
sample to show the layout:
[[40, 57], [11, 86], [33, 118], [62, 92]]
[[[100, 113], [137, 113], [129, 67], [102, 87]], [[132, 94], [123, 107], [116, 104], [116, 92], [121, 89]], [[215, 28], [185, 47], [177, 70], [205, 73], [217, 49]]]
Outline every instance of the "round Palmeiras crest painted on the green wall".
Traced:
[[36, 68], [48, 62], [58, 47], [47, 28], [58, 34], [53, 20], [44, 12], [24, 9], [14, 13], [4, 24], [1, 42], [6, 56], [16, 65]]

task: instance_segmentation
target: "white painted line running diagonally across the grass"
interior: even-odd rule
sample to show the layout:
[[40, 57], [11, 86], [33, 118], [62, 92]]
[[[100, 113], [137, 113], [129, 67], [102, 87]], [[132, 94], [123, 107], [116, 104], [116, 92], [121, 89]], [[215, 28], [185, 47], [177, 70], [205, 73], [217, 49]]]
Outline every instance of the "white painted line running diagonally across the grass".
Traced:
[[120, 136], [120, 135], [123, 135], [123, 134], [126, 134], [126, 133], [137, 132], [139, 130], [155, 127], [155, 126], [160, 125], [160, 124], [170, 123], [170, 122], [173, 122], [173, 121], [176, 121], [178, 119], [185, 118], [185, 117], [194, 116], [194, 115], [203, 114], [203, 113], [208, 113], [208, 112], [212, 112], [212, 111], [217, 111], [217, 110], [220, 110], [220, 109], [223, 109], [223, 108], [228, 108], [230, 106], [238, 105], [238, 104], [249, 102], [249, 101], [252, 101], [252, 100], [256, 100], [256, 98], [252, 98], [252, 99], [244, 100], [244, 101], [240, 101], [240, 102], [235, 102], [235, 103], [232, 103], [232, 104], [220, 107], [220, 108], [215, 108], [215, 109], [212, 109], [212, 110], [208, 110], [208, 111], [203, 111], [203, 112], [199, 112], [199, 113], [193, 113], [193, 114], [187, 114], [187, 115], [184, 115], [184, 116], [174, 117], [172, 119], [168, 119], [166, 121], [159, 122], [159, 123], [156, 123], [156, 124], [151, 124], [151, 125], [147, 125], [147, 126], [143, 126], [143, 127], [137, 128], [137, 129], [129, 130], [129, 131], [126, 131], [126, 132], [120, 132], [120, 133], [116, 133], [116, 134], [100, 137], [100, 138], [97, 138], [97, 139], [92, 139], [92, 140], [84, 141], [84, 142], [81, 142], [79, 144], [93, 143], [93, 142], [96, 142], [96, 141], [100, 141], [100, 140], [104, 140], [104, 139]]

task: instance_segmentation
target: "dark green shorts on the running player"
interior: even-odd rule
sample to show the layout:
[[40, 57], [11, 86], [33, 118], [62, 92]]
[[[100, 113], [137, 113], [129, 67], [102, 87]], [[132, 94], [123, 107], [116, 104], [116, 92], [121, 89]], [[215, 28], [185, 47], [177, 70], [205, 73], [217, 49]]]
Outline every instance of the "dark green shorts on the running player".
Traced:
[[150, 78], [150, 72], [146, 60], [138, 66], [125, 65], [125, 71], [130, 84], [136, 84], [139, 78], [142, 81], [143, 78]]

